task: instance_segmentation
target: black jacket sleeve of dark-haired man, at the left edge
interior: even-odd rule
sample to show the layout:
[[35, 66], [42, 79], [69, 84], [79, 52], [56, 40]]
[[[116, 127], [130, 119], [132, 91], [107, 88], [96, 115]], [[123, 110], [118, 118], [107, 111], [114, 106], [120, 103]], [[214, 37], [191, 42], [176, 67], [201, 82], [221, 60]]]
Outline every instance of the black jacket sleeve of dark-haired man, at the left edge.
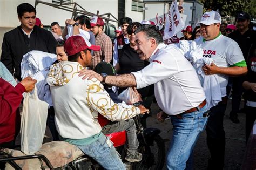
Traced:
[[2, 55], [1, 55], [1, 62], [5, 65], [5, 67], [10, 71], [11, 74], [14, 73], [14, 62], [12, 62], [11, 56], [11, 47], [7, 35], [4, 34], [3, 44], [2, 44]]

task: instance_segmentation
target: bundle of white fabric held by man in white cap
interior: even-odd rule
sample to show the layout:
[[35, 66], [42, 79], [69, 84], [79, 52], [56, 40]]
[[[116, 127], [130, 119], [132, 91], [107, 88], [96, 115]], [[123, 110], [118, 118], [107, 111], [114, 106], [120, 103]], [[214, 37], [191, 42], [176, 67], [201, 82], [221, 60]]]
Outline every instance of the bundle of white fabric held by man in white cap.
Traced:
[[206, 76], [202, 69], [205, 64], [211, 65], [211, 63], [214, 63], [214, 60], [203, 57], [203, 49], [198, 47], [194, 41], [180, 40], [179, 44], [175, 45], [179, 47], [180, 52], [183, 53], [184, 57], [190, 61], [196, 70], [201, 86], [205, 92], [208, 109], [216, 106], [221, 101], [218, 77], [216, 74]]

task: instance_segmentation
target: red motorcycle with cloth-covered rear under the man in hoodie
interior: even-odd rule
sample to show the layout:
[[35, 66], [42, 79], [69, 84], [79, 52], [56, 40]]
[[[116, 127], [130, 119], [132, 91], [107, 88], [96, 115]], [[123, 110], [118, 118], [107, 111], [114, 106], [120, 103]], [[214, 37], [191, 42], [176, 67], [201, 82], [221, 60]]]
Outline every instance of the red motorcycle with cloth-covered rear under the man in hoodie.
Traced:
[[[142, 161], [133, 163], [125, 162], [125, 131], [114, 132], [107, 134], [106, 136], [110, 137], [114, 147], [116, 147], [123, 162], [125, 162], [127, 169], [162, 169], [165, 160], [165, 145], [164, 140], [159, 136], [160, 130], [157, 128], [143, 128], [140, 123], [140, 117], [141, 115], [137, 115], [133, 119], [136, 123], [137, 138], [139, 141], [138, 152], [142, 153], [143, 155]], [[58, 148], [54, 150], [52, 147], [53, 144], [54, 146], [58, 146]], [[19, 156], [14, 156], [15, 150], [6, 148], [0, 149], [0, 164], [1, 162], [8, 162], [9, 166], [6, 167], [9, 168], [7, 169], [10, 169], [10, 167], [15, 169], [26, 169], [26, 167], [28, 169], [103, 169], [95, 160], [91, 159], [87, 155], [84, 155], [76, 146], [70, 145], [71, 144], [63, 141], [53, 141], [43, 144], [43, 146], [47, 147], [44, 149], [41, 148], [36, 155], [19, 154]], [[70, 147], [75, 147], [73, 151], [77, 153], [70, 151]], [[62, 149], [66, 151], [65, 156], [63, 156], [63, 153], [58, 154], [59, 150]], [[50, 154], [45, 154], [45, 151], [48, 153], [50, 152]], [[65, 158], [66, 160], [60, 160], [61, 158], [58, 157], [58, 155], [62, 155], [61, 158]], [[24, 160], [32, 161], [35, 159], [37, 160], [37, 168], [35, 168], [35, 165], [32, 166], [32, 168], [31, 165], [24, 167], [24, 165], [28, 163], [24, 162]]]

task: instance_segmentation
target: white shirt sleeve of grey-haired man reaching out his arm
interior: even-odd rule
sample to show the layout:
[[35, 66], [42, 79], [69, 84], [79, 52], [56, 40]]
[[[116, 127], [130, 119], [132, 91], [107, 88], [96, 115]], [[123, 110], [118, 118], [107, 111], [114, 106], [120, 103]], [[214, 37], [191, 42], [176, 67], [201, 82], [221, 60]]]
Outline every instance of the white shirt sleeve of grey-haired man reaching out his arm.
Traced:
[[[175, 51], [173, 50], [173, 53]], [[138, 89], [157, 83], [179, 72], [178, 61], [169, 52], [162, 52], [144, 69], [132, 72]], [[183, 57], [183, 56], [180, 56]]]

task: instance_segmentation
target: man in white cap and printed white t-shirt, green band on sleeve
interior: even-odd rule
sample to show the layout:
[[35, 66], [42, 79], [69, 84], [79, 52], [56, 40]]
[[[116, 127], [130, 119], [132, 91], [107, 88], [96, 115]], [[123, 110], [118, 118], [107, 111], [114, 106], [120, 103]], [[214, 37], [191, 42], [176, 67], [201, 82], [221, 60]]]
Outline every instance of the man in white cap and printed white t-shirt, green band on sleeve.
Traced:
[[211, 153], [208, 169], [223, 169], [225, 155], [223, 117], [227, 103], [228, 76], [245, 74], [247, 67], [238, 44], [221, 35], [221, 17], [218, 12], [205, 12], [199, 23], [201, 37], [195, 41], [204, 50], [203, 56], [212, 58], [215, 62], [215, 64], [205, 65], [203, 70], [206, 75], [218, 75], [222, 97], [222, 101], [210, 109], [206, 126], [207, 145]]

